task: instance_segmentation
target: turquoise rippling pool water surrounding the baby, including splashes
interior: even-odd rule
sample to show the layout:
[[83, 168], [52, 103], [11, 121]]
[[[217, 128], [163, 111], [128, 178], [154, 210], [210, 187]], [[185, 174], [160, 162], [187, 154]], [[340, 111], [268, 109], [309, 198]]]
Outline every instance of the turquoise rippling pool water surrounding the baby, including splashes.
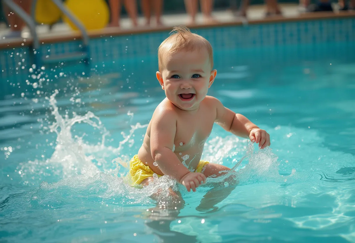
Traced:
[[259, 151], [214, 126], [202, 158], [233, 167], [247, 155], [240, 183], [207, 212], [196, 207], [208, 185], [180, 188], [178, 216], [150, 211], [148, 195], [169, 180], [136, 189], [124, 179], [164, 98], [155, 56], [2, 81], [0, 241], [355, 242], [354, 47], [216, 52], [209, 95], [272, 145]]

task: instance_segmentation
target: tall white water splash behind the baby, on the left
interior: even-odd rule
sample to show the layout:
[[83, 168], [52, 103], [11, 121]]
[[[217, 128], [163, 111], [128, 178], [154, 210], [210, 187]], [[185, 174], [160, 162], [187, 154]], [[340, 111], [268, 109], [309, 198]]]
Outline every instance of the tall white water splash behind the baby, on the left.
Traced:
[[[43, 126], [44, 129], [48, 129], [50, 132], [55, 133], [56, 145], [54, 152], [49, 159], [46, 160], [34, 160], [25, 163], [20, 163], [17, 166], [18, 173], [25, 179], [24, 183], [38, 182], [38, 180], [48, 180], [53, 182], [63, 178], [69, 178], [77, 174], [84, 174], [93, 177], [95, 174], [104, 172], [107, 174], [115, 174], [123, 176], [125, 173], [120, 171], [120, 166], [127, 168], [127, 162], [129, 158], [126, 155], [121, 154], [121, 150], [126, 143], [132, 146], [133, 140], [131, 140], [132, 134], [136, 129], [144, 128], [147, 125], [131, 125], [129, 135], [121, 133], [124, 140], [120, 141], [119, 147], [106, 146], [106, 136], [109, 135], [106, 128], [103, 126], [101, 120], [95, 116], [92, 112], [87, 112], [85, 115], [78, 115], [75, 112], [72, 113], [72, 118], [69, 118], [68, 114], [64, 117], [59, 113], [57, 101], [55, 99], [59, 91], [55, 90], [54, 93], [46, 99], [49, 101], [51, 115], [54, 116], [54, 122], [47, 126]], [[133, 113], [127, 113], [131, 117]], [[85, 123], [92, 127], [94, 130], [98, 130], [101, 136], [99, 142], [96, 145], [89, 144], [84, 141], [82, 136], [73, 135], [72, 128], [75, 124]], [[107, 163], [107, 158], [117, 156], [112, 160], [115, 167], [112, 164]], [[44, 156], [42, 156], [44, 157]], [[34, 177], [33, 175], [37, 175]], [[54, 177], [56, 175], [56, 177]]]

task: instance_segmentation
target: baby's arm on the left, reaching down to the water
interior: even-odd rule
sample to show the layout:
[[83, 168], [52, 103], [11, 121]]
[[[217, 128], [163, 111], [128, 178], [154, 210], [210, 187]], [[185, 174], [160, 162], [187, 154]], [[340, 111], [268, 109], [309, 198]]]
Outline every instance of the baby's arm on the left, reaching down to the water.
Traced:
[[190, 172], [172, 151], [176, 133], [176, 113], [171, 110], [157, 110], [151, 124], [151, 154], [159, 169], [184, 185], [187, 191], [206, 182], [202, 173]]

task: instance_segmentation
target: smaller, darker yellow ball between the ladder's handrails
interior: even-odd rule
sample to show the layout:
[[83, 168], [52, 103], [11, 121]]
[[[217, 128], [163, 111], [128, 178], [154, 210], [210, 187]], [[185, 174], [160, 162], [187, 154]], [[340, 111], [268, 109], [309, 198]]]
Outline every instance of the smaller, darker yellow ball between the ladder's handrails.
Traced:
[[60, 19], [62, 12], [51, 0], [37, 0], [34, 18], [37, 23], [52, 25]]

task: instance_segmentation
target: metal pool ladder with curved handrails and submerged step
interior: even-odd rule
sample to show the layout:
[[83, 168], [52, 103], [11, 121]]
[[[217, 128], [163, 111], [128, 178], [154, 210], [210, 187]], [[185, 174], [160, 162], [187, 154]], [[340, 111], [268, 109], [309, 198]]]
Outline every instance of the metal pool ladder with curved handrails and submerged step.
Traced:
[[80, 30], [82, 35], [83, 44], [77, 52], [64, 53], [59, 55], [48, 55], [43, 58], [43, 55], [40, 53], [40, 42], [36, 32], [36, 23], [34, 20], [34, 12], [37, 0], [32, 1], [32, 10], [31, 16], [29, 16], [20, 6], [18, 6], [12, 0], [2, 0], [5, 5], [7, 5], [13, 12], [22, 18], [26, 22], [32, 36], [32, 50], [33, 50], [33, 63], [37, 66], [43, 66], [45, 64], [54, 64], [65, 61], [72, 60], [82, 60], [83, 63], [89, 64], [90, 52], [89, 52], [89, 36], [86, 32], [86, 29], [82, 23], [67, 9], [61, 0], [51, 0], [54, 4], [64, 13], [71, 22]]

